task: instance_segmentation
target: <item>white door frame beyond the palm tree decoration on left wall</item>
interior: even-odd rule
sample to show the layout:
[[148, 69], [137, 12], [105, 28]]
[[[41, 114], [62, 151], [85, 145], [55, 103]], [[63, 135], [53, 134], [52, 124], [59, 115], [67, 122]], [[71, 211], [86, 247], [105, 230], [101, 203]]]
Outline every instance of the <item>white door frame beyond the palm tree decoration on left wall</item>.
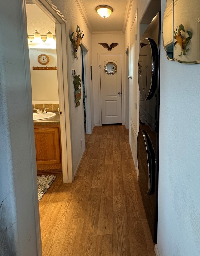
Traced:
[[[90, 65], [89, 65], [89, 49], [82, 42], [81, 48], [83, 50], [83, 65], [84, 65], [84, 78], [85, 78], [85, 112], [86, 112], [86, 134], [92, 133], [91, 123], [91, 99], [90, 99]], [[83, 81], [83, 79], [82, 79]]]

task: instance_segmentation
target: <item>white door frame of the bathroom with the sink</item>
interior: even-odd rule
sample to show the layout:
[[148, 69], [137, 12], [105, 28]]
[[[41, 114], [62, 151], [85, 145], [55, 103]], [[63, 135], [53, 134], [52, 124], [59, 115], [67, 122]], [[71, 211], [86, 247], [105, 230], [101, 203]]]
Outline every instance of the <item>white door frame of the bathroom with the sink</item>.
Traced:
[[63, 162], [63, 182], [73, 182], [72, 173], [72, 152], [71, 152], [71, 131], [70, 131], [70, 113], [69, 113], [69, 91], [67, 73], [67, 20], [63, 14], [59, 12], [56, 6], [47, 0], [33, 0], [49, 18], [55, 22], [56, 30], [56, 53], [58, 65], [58, 94], [59, 107], [62, 111], [60, 116], [61, 128], [61, 148]]

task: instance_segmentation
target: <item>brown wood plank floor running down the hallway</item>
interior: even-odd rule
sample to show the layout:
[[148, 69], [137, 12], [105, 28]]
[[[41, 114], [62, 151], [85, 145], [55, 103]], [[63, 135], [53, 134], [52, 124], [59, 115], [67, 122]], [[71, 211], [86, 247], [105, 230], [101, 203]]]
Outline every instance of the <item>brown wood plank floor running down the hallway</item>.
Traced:
[[95, 127], [75, 181], [39, 202], [43, 256], [155, 256], [128, 130]]

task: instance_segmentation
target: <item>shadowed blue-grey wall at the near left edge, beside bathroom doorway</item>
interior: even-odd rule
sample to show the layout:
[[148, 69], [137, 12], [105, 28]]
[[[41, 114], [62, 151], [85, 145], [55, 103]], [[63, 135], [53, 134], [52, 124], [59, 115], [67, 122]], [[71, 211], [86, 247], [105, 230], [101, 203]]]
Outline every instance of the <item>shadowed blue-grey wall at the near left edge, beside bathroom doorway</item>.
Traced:
[[0, 209], [1, 242], [5, 239], [0, 254], [38, 256], [42, 248], [35, 220], [39, 221], [39, 207], [26, 24], [21, 1], [0, 4], [0, 204], [6, 198]]

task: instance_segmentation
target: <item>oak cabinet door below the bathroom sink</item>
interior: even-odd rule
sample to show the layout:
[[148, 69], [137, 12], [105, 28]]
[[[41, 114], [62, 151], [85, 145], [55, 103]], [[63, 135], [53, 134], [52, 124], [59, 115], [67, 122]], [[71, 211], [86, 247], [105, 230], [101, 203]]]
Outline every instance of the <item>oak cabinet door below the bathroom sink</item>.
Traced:
[[61, 163], [59, 128], [35, 128], [37, 165]]

